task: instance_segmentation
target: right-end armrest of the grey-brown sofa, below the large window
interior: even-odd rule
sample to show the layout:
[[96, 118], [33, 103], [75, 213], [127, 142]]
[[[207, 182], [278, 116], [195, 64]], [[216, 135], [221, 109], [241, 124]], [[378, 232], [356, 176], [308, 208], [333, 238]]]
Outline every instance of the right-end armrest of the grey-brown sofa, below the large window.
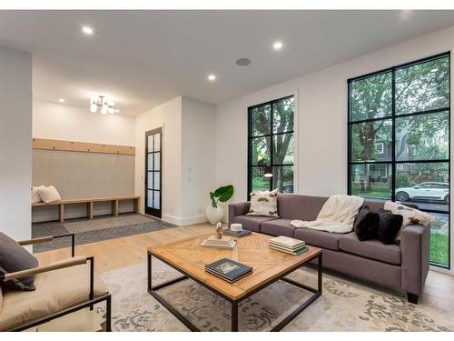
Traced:
[[401, 285], [408, 293], [420, 295], [429, 272], [430, 225], [410, 225], [402, 229]]

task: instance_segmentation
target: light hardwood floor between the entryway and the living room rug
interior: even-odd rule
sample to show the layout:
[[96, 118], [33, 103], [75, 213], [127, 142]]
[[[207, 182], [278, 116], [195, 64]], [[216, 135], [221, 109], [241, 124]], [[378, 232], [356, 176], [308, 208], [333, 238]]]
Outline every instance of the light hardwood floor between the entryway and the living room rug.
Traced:
[[[190, 236], [202, 236], [213, 232], [208, 224], [167, 228], [142, 235], [125, 236], [102, 242], [76, 246], [75, 254], [94, 256], [95, 270], [99, 273], [132, 266], [146, 260], [147, 247], [183, 240]], [[35, 254], [40, 264], [49, 264], [71, 256], [69, 248]], [[438, 306], [452, 311], [454, 309], [454, 276], [429, 271], [421, 303]]]

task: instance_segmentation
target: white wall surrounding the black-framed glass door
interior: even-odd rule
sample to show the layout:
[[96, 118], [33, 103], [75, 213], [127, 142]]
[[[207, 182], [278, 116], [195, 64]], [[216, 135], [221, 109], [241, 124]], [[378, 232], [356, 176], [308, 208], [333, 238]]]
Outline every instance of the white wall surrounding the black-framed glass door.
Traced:
[[135, 119], [135, 195], [144, 212], [145, 132], [163, 127], [163, 220], [180, 225], [182, 195], [182, 97], [173, 98]]

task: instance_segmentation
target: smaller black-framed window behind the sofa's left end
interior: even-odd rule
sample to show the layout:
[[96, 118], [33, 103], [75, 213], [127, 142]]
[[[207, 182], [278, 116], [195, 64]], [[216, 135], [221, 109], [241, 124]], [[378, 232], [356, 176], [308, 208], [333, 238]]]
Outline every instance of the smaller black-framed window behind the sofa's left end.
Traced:
[[248, 196], [253, 190], [293, 193], [294, 97], [248, 108]]

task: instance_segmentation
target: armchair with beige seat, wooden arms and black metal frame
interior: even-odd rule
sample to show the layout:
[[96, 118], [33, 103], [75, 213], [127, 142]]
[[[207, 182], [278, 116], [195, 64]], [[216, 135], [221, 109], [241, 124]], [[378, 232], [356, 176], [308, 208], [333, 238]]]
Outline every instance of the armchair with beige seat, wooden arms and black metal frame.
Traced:
[[[94, 257], [74, 256], [50, 265], [0, 275], [0, 285], [24, 276], [35, 276], [35, 290], [3, 290], [0, 286], [0, 331], [22, 331], [43, 325], [105, 302], [105, 331], [111, 331], [111, 295], [94, 274]], [[44, 243], [64, 236], [46, 236], [18, 242], [21, 246]], [[70, 331], [70, 330], [68, 330]]]

